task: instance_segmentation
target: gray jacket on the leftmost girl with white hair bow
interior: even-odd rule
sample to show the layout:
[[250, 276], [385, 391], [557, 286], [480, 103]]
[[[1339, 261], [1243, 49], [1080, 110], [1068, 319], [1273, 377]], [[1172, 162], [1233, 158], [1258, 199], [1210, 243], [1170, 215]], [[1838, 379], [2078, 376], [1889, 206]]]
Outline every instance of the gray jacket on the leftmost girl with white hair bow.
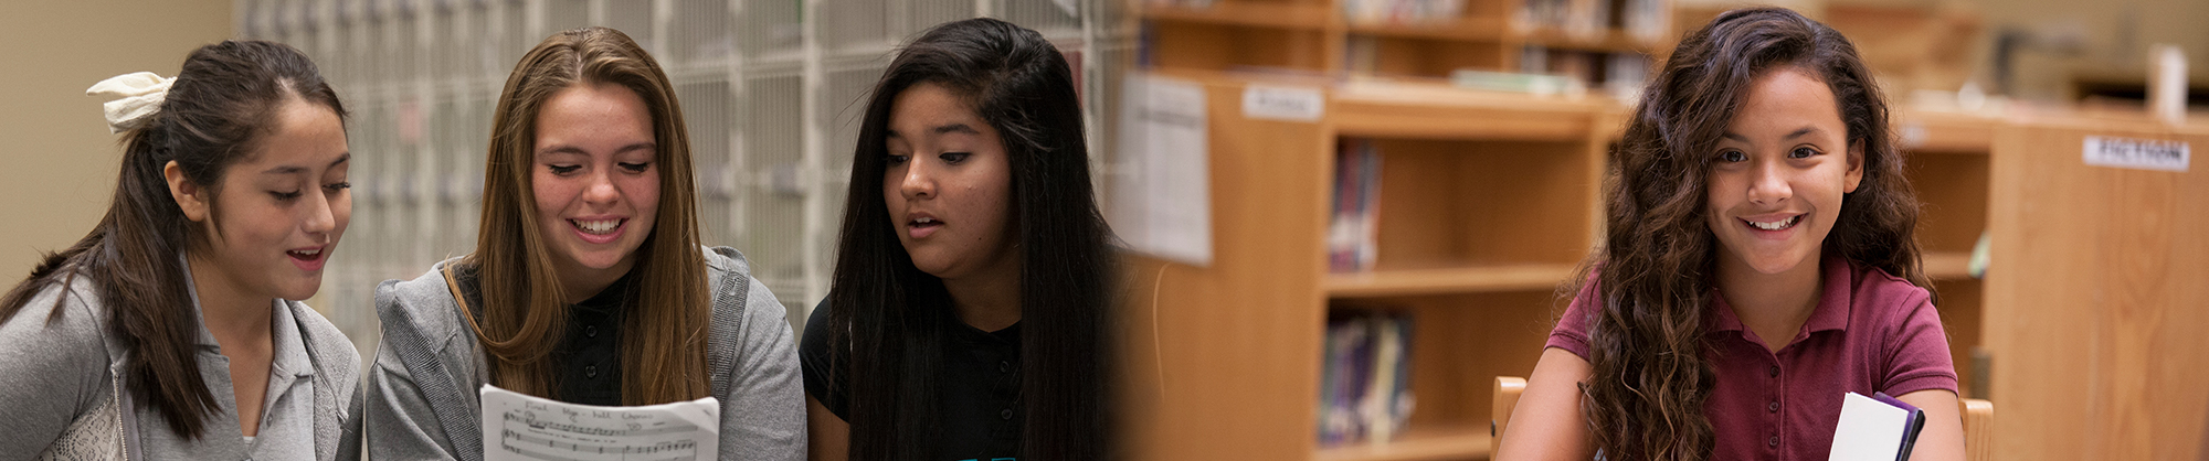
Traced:
[[[68, 300], [55, 307], [64, 289]], [[60, 318], [51, 318], [55, 309]], [[272, 318], [278, 351], [269, 364], [269, 384], [283, 390], [267, 393], [254, 443], [239, 435], [230, 360], [203, 324], [197, 329], [194, 362], [186, 364], [199, 368], [216, 401], [201, 439], [179, 437], [159, 410], [117, 390], [128, 382], [121, 377], [130, 353], [110, 329], [108, 309], [113, 307], [99, 300], [91, 280], [77, 278], [68, 287], [42, 289], [15, 318], [0, 324], [0, 459], [33, 459], [49, 443], [66, 446], [71, 441], [57, 437], [71, 424], [99, 426], [77, 421], [80, 417], [113, 419], [97, 430], [119, 430], [124, 459], [250, 459], [272, 452], [360, 459], [360, 353], [307, 304], [274, 300], [269, 307], [281, 309]], [[311, 393], [303, 393], [307, 388]], [[311, 426], [292, 426], [307, 424], [300, 419], [311, 419]]]

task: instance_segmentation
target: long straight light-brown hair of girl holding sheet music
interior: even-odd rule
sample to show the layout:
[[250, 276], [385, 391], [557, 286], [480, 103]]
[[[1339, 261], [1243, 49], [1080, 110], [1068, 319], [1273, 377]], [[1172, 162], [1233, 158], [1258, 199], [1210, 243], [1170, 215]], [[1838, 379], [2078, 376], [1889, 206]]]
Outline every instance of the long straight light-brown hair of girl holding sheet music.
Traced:
[[490, 362], [490, 382], [554, 397], [546, 355], [568, 326], [566, 289], [537, 227], [530, 168], [537, 112], [559, 90], [616, 84], [645, 99], [660, 165], [658, 218], [636, 249], [636, 291], [621, 324], [621, 401], [630, 406], [707, 395], [705, 344], [711, 300], [698, 247], [698, 196], [683, 106], [660, 64], [630, 35], [605, 26], [554, 33], [506, 77], [493, 115], [484, 168], [484, 225], [475, 254], [459, 265], [482, 280], [482, 311], [471, 313]]

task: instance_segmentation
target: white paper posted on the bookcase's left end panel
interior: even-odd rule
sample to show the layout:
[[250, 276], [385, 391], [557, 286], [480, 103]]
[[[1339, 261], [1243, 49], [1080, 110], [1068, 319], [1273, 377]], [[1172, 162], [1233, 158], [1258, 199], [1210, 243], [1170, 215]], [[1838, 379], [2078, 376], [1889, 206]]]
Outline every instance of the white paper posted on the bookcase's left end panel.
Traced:
[[1213, 176], [1204, 86], [1129, 73], [1109, 218], [1129, 249], [1213, 265]]

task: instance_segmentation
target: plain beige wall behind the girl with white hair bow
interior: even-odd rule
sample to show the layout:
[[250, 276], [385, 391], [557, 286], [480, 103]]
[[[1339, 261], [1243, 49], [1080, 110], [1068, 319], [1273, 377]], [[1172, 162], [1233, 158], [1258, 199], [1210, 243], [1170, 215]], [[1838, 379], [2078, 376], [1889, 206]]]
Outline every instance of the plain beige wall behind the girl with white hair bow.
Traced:
[[0, 287], [40, 251], [91, 232], [115, 192], [121, 146], [99, 99], [104, 77], [175, 77], [192, 49], [230, 37], [230, 0], [0, 2]]

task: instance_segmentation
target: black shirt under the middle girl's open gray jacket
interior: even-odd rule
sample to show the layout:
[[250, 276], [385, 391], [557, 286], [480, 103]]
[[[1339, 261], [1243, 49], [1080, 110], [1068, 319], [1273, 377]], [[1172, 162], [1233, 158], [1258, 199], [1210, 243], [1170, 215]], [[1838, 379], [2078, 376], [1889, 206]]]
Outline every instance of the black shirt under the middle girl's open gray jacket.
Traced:
[[[607, 285], [590, 300], [568, 304], [568, 331], [546, 360], [552, 360], [552, 399], [585, 406], [621, 406], [621, 320], [634, 300], [636, 271]], [[468, 307], [482, 320], [482, 293], [473, 271], [455, 271]]]

